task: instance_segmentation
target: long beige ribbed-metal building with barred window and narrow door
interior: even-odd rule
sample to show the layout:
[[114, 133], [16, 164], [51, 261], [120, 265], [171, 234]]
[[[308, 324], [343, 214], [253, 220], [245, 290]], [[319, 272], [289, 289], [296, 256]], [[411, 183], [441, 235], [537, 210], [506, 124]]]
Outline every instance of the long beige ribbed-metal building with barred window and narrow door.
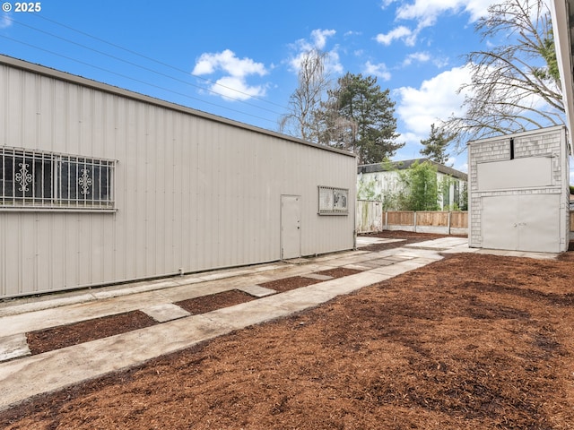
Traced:
[[0, 297], [354, 246], [354, 155], [0, 56]]

